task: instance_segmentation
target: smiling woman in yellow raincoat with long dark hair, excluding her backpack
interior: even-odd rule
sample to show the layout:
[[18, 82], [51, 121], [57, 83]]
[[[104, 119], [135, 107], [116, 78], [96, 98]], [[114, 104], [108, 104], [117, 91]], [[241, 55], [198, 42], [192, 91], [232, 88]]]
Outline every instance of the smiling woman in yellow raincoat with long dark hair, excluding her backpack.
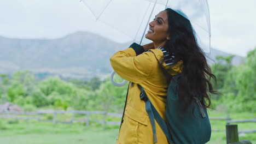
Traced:
[[[110, 58], [115, 72], [130, 81], [118, 144], [153, 143], [152, 125], [145, 103], [139, 97], [139, 85], [163, 119], [172, 75], [183, 75], [179, 82], [179, 97], [184, 100], [184, 109], [196, 97], [195, 93], [200, 93], [202, 105], [209, 107], [211, 100], [208, 92], [215, 93], [207, 77], [216, 77], [211, 74], [206, 58], [196, 43], [188, 19], [167, 8], [149, 23], [146, 38], [153, 43], [143, 46], [133, 43]], [[158, 123], [155, 124], [157, 143], [168, 143]]]

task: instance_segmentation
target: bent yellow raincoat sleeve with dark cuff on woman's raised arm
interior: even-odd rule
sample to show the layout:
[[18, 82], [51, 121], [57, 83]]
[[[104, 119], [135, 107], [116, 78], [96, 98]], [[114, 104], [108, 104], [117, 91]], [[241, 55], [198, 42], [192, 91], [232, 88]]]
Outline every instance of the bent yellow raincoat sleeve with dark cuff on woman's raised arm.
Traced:
[[151, 52], [144, 52], [142, 46], [133, 43], [128, 49], [118, 51], [110, 58], [115, 73], [127, 81], [141, 83], [152, 72]]

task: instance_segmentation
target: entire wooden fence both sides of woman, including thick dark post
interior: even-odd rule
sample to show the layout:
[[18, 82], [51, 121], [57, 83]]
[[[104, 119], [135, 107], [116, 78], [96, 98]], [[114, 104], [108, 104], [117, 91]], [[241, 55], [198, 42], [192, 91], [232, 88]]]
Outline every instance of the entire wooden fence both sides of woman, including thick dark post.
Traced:
[[[58, 114], [67, 114], [71, 113], [71, 119], [69, 121], [58, 121], [57, 115]], [[43, 114], [52, 114], [52, 119], [42, 119]], [[85, 115], [84, 118], [81, 119], [75, 119], [75, 114], [77, 115]], [[92, 119], [91, 115], [102, 115], [103, 119]], [[27, 122], [30, 122], [31, 119], [36, 119], [38, 122], [52, 122], [54, 124], [56, 123], [70, 123], [73, 122], [85, 122], [86, 126], [89, 127], [90, 122], [97, 122], [100, 124], [103, 124], [103, 127], [106, 128], [106, 125], [119, 125], [119, 122], [110, 122], [107, 121], [107, 116], [117, 117], [121, 118], [121, 114], [117, 113], [109, 113], [104, 111], [53, 111], [53, 110], [44, 110], [44, 111], [37, 111], [37, 112], [0, 112], [0, 118], [15, 118], [15, 119], [25, 119]], [[256, 129], [252, 130], [237, 130], [237, 124], [231, 124], [231, 123], [250, 123], [250, 122], [256, 122], [256, 119], [239, 119], [239, 120], [232, 120], [230, 117], [210, 117], [211, 120], [214, 121], [226, 121], [226, 130], [214, 130], [212, 131], [226, 131], [226, 143], [228, 144], [252, 144], [249, 140], [238, 140], [238, 134], [239, 133], [256, 133]]]

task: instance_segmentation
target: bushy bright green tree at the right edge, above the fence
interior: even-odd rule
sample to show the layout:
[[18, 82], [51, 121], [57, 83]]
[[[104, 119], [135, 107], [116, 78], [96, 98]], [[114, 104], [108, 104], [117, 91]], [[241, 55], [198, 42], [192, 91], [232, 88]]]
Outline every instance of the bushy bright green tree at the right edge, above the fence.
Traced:
[[256, 48], [248, 52], [246, 63], [232, 68], [224, 82], [224, 102], [234, 111], [255, 111]]

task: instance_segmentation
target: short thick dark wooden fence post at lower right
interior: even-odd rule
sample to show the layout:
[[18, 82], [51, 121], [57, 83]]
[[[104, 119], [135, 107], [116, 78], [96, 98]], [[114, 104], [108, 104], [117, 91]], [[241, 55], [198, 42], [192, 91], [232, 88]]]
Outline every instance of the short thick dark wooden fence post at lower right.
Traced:
[[238, 142], [237, 124], [226, 124], [226, 143]]

